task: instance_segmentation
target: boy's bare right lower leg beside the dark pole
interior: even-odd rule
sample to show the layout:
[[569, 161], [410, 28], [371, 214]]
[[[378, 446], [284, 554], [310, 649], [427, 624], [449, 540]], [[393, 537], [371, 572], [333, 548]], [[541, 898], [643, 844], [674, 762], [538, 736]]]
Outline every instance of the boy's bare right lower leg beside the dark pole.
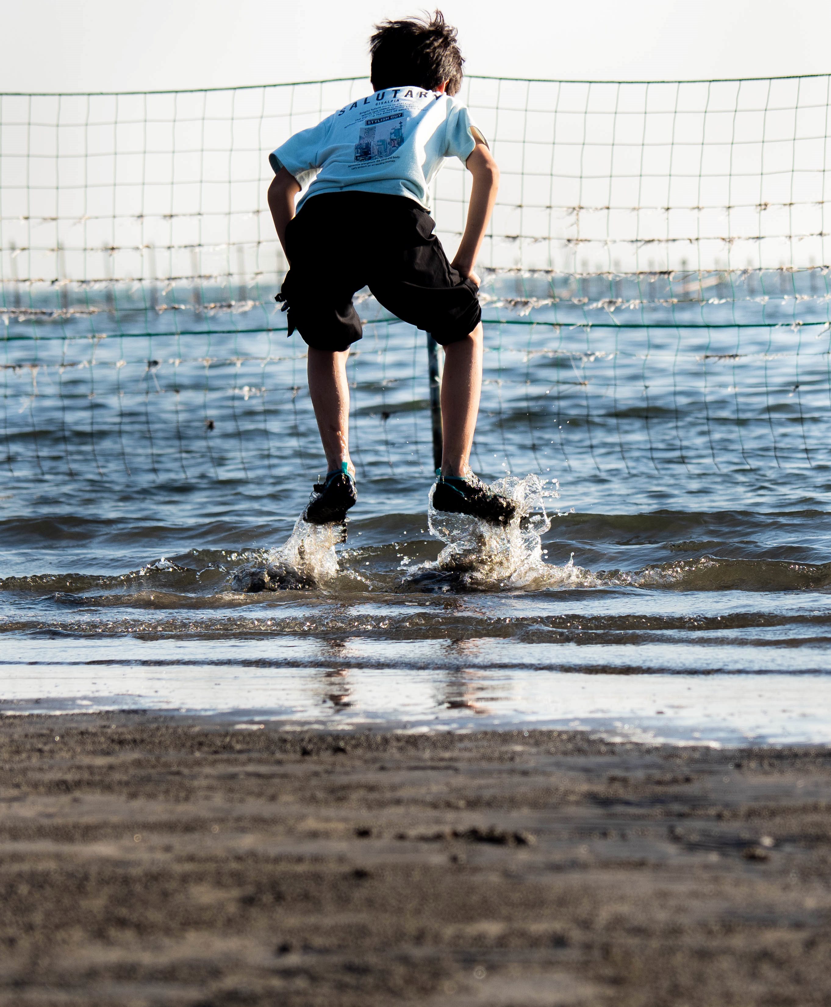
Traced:
[[482, 324], [445, 347], [442, 377], [442, 474], [467, 475], [482, 392]]

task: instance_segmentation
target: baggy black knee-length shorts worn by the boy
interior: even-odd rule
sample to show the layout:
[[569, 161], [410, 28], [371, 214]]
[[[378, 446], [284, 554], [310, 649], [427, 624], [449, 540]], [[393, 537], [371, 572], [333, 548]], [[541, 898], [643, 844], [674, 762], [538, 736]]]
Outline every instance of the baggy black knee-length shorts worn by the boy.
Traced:
[[342, 350], [361, 337], [352, 295], [368, 286], [402, 321], [457, 342], [482, 317], [479, 288], [448, 262], [430, 213], [413, 199], [379, 192], [312, 196], [286, 229], [291, 269], [280, 300], [289, 335]]

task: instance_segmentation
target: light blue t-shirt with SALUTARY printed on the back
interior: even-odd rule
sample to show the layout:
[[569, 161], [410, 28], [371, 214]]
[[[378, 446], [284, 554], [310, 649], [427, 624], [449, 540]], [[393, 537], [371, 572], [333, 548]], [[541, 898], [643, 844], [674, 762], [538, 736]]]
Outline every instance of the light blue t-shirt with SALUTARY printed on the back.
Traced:
[[[387, 88], [295, 133], [269, 155], [305, 188], [300, 206], [323, 192], [404, 195], [430, 209], [430, 183], [446, 157], [463, 163], [484, 137], [467, 108], [423, 88]], [[311, 184], [309, 184], [311, 182]]]

